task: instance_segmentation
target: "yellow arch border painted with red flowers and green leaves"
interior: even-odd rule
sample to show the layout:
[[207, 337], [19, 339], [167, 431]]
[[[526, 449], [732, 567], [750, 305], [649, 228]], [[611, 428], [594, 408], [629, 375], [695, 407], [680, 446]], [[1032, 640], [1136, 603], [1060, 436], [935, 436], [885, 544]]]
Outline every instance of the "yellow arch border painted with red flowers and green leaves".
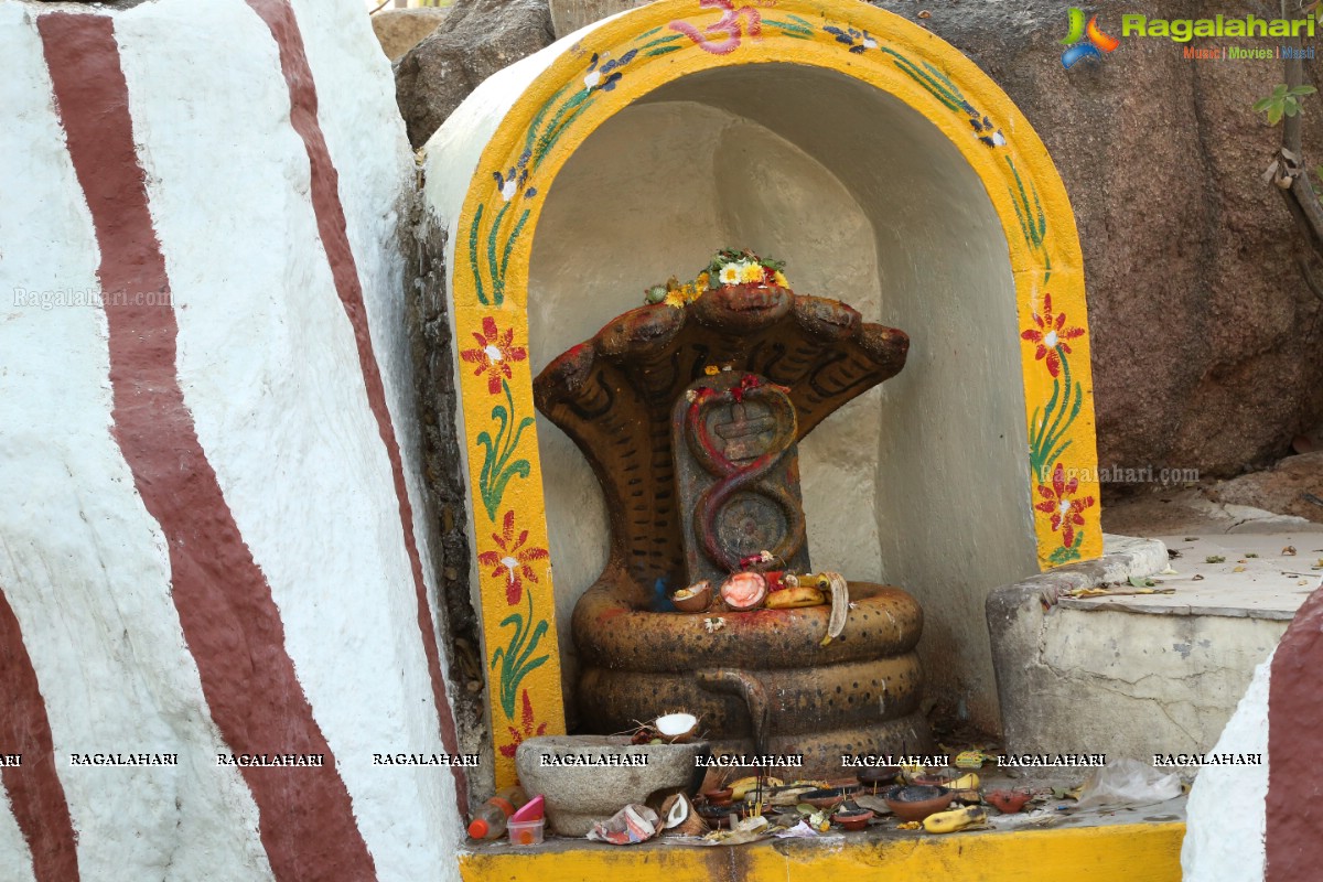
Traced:
[[626, 12], [582, 36], [517, 98], [451, 229], [499, 783], [513, 780], [524, 738], [565, 725], [528, 361], [541, 194], [594, 130], [642, 95], [703, 70], [770, 62], [836, 70], [894, 95], [975, 169], [1009, 243], [1039, 561], [1102, 553], [1080, 242], [1056, 167], [1011, 99], [941, 38], [853, 0], [662, 0]]

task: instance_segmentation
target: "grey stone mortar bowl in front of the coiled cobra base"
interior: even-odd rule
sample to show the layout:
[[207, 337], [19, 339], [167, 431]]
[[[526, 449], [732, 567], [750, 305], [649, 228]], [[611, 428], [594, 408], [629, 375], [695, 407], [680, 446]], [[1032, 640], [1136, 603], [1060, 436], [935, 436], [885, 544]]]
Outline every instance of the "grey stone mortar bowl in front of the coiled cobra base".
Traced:
[[[660, 805], [671, 793], [693, 793], [706, 770], [695, 758], [712, 752], [708, 742], [630, 744], [623, 735], [544, 735], [515, 751], [515, 768], [529, 796], [546, 800], [546, 820], [560, 836], [586, 836], [626, 805]], [[646, 756], [646, 766], [554, 766], [542, 758], [611, 762], [611, 756]], [[579, 758], [586, 758], [579, 759]], [[607, 759], [603, 759], [607, 758]], [[639, 762], [639, 760], [635, 760]]]

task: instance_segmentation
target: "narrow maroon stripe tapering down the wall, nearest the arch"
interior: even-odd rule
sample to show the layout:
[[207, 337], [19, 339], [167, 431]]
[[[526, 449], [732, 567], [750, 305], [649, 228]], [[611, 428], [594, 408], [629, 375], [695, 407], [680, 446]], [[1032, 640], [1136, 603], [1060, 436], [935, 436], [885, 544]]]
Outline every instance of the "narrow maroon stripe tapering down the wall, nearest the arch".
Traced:
[[[294, 20], [294, 9], [287, 0], [247, 0], [249, 7], [262, 17], [271, 30], [271, 37], [280, 50], [280, 70], [290, 87], [290, 122], [294, 131], [303, 139], [308, 152], [312, 172], [312, 210], [318, 218], [318, 234], [331, 262], [331, 276], [335, 280], [340, 303], [353, 327], [353, 339], [359, 346], [359, 368], [368, 391], [368, 405], [377, 418], [377, 432], [390, 458], [390, 473], [394, 476], [396, 499], [400, 501], [400, 525], [404, 529], [405, 547], [409, 550], [409, 565], [413, 567], [414, 594], [418, 603], [418, 629], [422, 632], [423, 653], [427, 656], [427, 673], [431, 676], [433, 701], [441, 718], [441, 742], [451, 754], [459, 752], [459, 739], [455, 737], [455, 718], [446, 698], [446, 682], [441, 676], [441, 657], [437, 651], [437, 632], [427, 604], [427, 586], [422, 578], [422, 561], [418, 558], [418, 542], [413, 532], [413, 505], [409, 502], [409, 489], [405, 485], [405, 468], [400, 459], [400, 443], [390, 423], [386, 409], [386, 390], [381, 382], [377, 357], [372, 352], [372, 336], [368, 331], [368, 313], [363, 304], [363, 284], [349, 249], [349, 234], [345, 230], [344, 206], [340, 205], [340, 176], [331, 161], [321, 126], [318, 123], [318, 90], [312, 82], [312, 70], [303, 49], [303, 34]], [[467, 812], [468, 784], [464, 770], [451, 766], [455, 776], [455, 796], [459, 813]]]

